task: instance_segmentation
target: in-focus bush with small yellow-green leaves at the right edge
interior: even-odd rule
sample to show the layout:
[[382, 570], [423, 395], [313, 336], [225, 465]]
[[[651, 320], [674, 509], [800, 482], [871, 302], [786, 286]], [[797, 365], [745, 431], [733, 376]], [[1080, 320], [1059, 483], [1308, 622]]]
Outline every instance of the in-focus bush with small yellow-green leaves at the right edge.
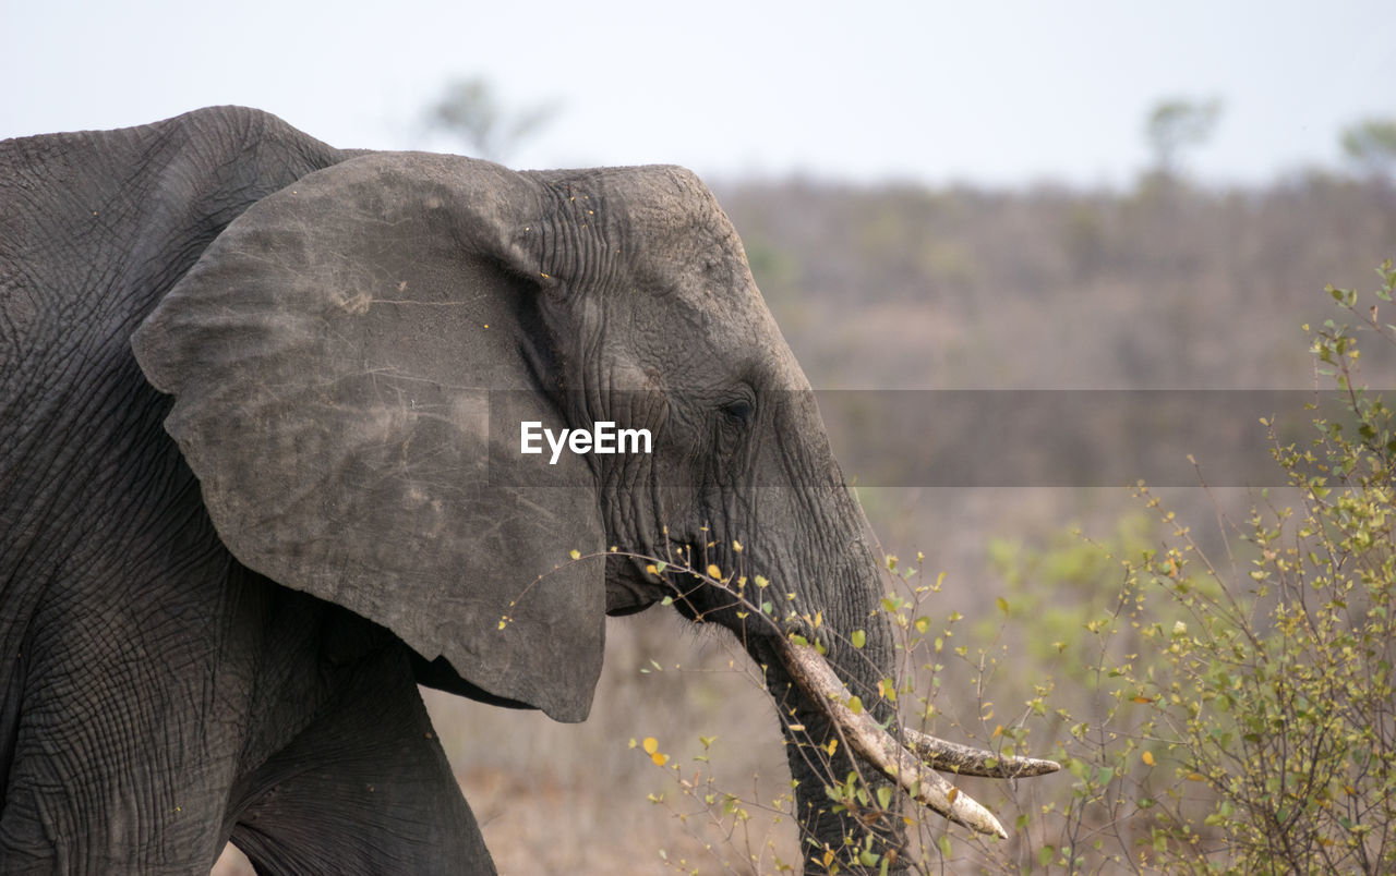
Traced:
[[[1389, 304], [1396, 271], [1379, 273]], [[1329, 293], [1356, 312], [1356, 292]], [[1368, 326], [1396, 343], [1378, 314], [1372, 304]], [[1152, 628], [1166, 646], [1148, 679], [1175, 776], [1210, 792], [1201, 824], [1164, 808], [1154, 848], [1174, 865], [1396, 870], [1396, 432], [1390, 409], [1358, 388], [1353, 329], [1328, 322], [1314, 353], [1353, 425], [1318, 418], [1312, 446], [1273, 448], [1298, 512], [1254, 513], [1244, 564], [1189, 564], [1185, 545], [1131, 568], [1192, 618]], [[1189, 586], [1198, 562], [1217, 593]]]

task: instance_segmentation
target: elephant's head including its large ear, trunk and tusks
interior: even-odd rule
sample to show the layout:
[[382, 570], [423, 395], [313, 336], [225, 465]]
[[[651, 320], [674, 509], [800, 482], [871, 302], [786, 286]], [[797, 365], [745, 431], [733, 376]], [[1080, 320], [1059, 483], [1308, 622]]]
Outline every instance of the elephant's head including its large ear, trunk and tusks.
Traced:
[[[363, 155], [247, 209], [133, 343], [242, 564], [494, 697], [585, 718], [604, 615], [667, 596], [766, 668], [819, 844], [899, 841], [899, 819], [831, 810], [825, 785], [854, 769], [988, 833], [923, 764], [1048, 769], [882, 730], [893, 640], [861, 509], [732, 223], [688, 172]], [[525, 423], [653, 441], [525, 455]], [[782, 610], [754, 608], [758, 576], [793, 594]]]

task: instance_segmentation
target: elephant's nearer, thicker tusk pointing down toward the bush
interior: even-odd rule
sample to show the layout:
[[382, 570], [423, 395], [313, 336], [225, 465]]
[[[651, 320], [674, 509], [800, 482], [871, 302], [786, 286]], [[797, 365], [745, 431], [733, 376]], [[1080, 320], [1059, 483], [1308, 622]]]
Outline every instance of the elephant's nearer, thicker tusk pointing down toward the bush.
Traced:
[[814, 647], [780, 636], [779, 653], [790, 678], [819, 703], [829, 720], [843, 731], [849, 746], [891, 778], [913, 799], [951, 822], [980, 833], [1008, 838], [1004, 826], [988, 809], [965, 794], [878, 727], [867, 711], [850, 707], [852, 695], [843, 681]]

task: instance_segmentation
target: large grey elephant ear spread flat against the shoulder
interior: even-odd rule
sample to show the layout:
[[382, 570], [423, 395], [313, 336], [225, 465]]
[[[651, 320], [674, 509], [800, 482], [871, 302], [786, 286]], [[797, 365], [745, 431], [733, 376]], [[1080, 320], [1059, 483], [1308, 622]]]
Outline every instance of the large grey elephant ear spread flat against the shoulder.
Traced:
[[422, 153], [313, 173], [229, 225], [133, 347], [242, 564], [579, 721], [604, 639], [596, 487], [571, 453], [554, 485], [517, 470], [522, 420], [565, 425], [536, 374], [535, 186]]

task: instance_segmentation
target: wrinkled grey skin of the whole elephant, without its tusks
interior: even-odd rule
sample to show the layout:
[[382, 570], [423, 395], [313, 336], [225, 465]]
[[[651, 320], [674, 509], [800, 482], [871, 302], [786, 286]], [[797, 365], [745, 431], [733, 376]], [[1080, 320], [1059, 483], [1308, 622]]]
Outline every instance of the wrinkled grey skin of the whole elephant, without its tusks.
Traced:
[[[769, 667], [805, 834], [864, 836], [772, 660], [800, 622], [606, 557], [761, 573], [864, 702], [892, 675], [861, 511], [690, 173], [219, 107], [6, 141], [0, 211], [0, 872], [191, 873], [229, 838], [261, 873], [493, 872], [415, 685], [582, 720], [603, 615], [676, 587]], [[521, 418], [655, 452], [536, 487]]]

